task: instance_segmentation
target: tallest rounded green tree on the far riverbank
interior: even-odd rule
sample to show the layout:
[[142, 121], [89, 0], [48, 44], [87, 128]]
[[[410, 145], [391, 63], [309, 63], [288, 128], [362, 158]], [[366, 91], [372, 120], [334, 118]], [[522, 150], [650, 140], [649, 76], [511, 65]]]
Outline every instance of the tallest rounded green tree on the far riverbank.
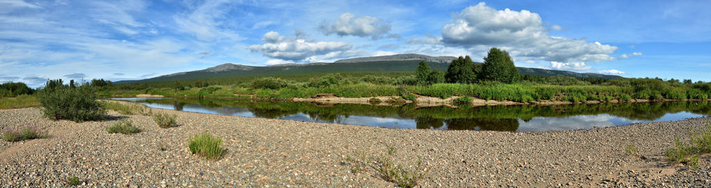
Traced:
[[521, 74], [513, 65], [513, 60], [506, 50], [491, 48], [484, 57], [484, 65], [481, 67], [479, 76], [483, 80], [510, 84], [518, 82]]

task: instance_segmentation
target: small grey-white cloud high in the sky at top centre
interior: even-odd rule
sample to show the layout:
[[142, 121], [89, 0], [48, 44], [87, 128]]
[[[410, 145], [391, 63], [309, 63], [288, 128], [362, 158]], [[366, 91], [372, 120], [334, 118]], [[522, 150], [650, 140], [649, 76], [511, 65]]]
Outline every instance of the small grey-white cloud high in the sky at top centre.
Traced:
[[359, 37], [380, 38], [400, 38], [400, 35], [390, 34], [390, 24], [385, 23], [380, 18], [371, 16], [360, 16], [355, 18], [353, 13], [343, 13], [341, 16], [329, 23], [324, 21], [319, 25], [319, 31], [325, 35], [336, 34], [339, 36], [353, 35]]

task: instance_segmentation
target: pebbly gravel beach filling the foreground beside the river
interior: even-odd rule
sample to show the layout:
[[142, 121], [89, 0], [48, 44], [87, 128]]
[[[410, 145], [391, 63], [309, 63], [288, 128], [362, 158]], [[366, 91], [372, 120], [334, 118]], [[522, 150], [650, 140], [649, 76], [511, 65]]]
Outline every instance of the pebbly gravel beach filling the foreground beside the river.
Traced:
[[[109, 120], [50, 121], [38, 108], [0, 110], [0, 128], [36, 126], [48, 138], [0, 140], [0, 187], [394, 187], [366, 168], [351, 172], [355, 153], [398, 164], [418, 157], [421, 187], [711, 187], [711, 155], [698, 169], [669, 165], [675, 138], [711, 125], [711, 118], [636, 123], [542, 133], [434, 131], [308, 123], [152, 109], [176, 114], [159, 128], [151, 116], [109, 111]], [[109, 134], [130, 119], [142, 132]], [[223, 139], [220, 160], [191, 155], [187, 142], [209, 131]], [[639, 155], [625, 152], [634, 145]]]

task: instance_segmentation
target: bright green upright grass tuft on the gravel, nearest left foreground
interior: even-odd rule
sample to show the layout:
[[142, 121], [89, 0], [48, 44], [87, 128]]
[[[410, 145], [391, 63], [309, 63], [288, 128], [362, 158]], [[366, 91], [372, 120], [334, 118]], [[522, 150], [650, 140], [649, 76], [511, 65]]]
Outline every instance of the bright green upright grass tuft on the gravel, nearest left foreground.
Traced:
[[210, 136], [207, 131], [191, 136], [188, 148], [191, 153], [203, 155], [208, 160], [218, 160], [225, 152], [225, 149], [222, 148], [222, 139]]

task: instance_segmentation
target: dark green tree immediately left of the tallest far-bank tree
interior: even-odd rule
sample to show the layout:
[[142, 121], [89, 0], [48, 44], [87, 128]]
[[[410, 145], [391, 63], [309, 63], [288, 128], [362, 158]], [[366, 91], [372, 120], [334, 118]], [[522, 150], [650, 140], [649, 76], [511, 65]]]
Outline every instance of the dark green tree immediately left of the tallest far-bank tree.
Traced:
[[476, 73], [474, 73], [474, 62], [471, 57], [459, 56], [456, 60], [451, 60], [451, 64], [447, 68], [447, 73], [444, 78], [449, 83], [471, 84], [476, 81]]

